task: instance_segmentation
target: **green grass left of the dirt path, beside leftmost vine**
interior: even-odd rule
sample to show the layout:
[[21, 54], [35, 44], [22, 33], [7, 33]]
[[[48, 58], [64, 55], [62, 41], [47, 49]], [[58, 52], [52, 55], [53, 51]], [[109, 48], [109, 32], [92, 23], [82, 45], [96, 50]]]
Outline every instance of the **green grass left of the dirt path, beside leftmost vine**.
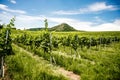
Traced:
[[15, 55], [7, 56], [5, 60], [11, 80], [67, 80], [54, 73], [54, 67], [47, 61], [36, 60], [19, 47], [12, 46]]

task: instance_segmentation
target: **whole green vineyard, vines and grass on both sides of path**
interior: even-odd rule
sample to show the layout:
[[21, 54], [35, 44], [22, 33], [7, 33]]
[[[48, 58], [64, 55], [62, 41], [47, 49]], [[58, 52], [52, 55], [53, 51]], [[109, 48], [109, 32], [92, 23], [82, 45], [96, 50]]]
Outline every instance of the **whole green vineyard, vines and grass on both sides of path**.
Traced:
[[[3, 34], [0, 35], [5, 37]], [[7, 76], [14, 80], [65, 80], [77, 74], [81, 80], [119, 80], [119, 35], [120, 32], [12, 30], [13, 43], [23, 49], [16, 45], [8, 48], [15, 55], [6, 56]], [[1, 44], [6, 40], [2, 37]]]

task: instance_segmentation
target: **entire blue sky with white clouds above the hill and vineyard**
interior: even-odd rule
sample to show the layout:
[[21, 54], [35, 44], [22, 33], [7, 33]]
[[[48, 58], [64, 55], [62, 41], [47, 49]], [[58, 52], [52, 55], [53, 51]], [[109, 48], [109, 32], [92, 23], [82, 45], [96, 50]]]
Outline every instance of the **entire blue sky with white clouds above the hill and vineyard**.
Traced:
[[16, 16], [15, 27], [28, 29], [68, 23], [78, 30], [120, 31], [120, 0], [0, 0], [0, 20]]

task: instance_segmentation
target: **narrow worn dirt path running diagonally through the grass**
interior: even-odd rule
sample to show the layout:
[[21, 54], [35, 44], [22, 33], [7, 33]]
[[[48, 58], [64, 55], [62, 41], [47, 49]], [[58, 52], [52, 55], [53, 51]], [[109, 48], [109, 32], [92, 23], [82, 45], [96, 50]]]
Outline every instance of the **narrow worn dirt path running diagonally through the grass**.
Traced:
[[[44, 60], [42, 57], [39, 57], [37, 55], [33, 55], [33, 53], [26, 51], [25, 49], [17, 46], [16, 44], [13, 44], [14, 46], [18, 47], [20, 49], [20, 51], [23, 51], [25, 53], [27, 53], [28, 55], [30, 55], [32, 58], [34, 58], [35, 60], [39, 61], [39, 60], [43, 60], [42, 62], [47, 62], [46, 60]], [[49, 63], [48, 63], [49, 64]], [[53, 67], [53, 71], [57, 74], [62, 74], [63, 76], [67, 77], [69, 80], [80, 80], [80, 76], [77, 74], [74, 74], [72, 71], [67, 71], [62, 67], [58, 67], [58, 66], [54, 66], [52, 64], [49, 64], [51, 67]]]

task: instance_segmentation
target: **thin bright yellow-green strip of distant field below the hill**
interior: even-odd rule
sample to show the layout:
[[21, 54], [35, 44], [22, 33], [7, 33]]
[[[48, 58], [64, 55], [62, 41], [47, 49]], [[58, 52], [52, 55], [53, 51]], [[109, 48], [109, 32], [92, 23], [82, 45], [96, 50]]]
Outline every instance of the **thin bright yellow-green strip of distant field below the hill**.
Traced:
[[[20, 30], [13, 30], [13, 35], [20, 35], [23, 33], [27, 33], [27, 34], [31, 34], [31, 35], [41, 35], [41, 33], [43, 33], [43, 31], [20, 31]], [[99, 37], [99, 36], [105, 36], [105, 37], [109, 37], [109, 36], [120, 36], [120, 31], [102, 31], [102, 32], [79, 32], [79, 31], [73, 31], [73, 32], [55, 32], [55, 31], [51, 31], [51, 33], [53, 35], [59, 35], [59, 36], [68, 36], [68, 35], [79, 35], [79, 36], [86, 36], [86, 37]]]

